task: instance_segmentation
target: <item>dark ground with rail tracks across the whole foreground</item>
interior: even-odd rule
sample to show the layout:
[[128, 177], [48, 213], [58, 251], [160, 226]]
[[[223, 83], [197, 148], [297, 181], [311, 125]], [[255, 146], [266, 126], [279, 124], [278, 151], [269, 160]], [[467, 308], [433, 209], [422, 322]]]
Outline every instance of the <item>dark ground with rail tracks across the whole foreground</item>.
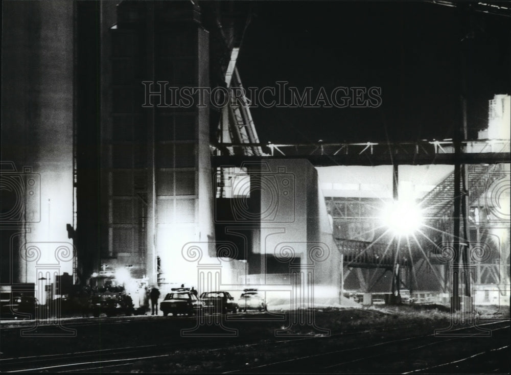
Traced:
[[[53, 335], [60, 328], [44, 325], [31, 331], [39, 336], [24, 336], [21, 331], [34, 322], [11, 322], [2, 323], [0, 351], [2, 359], [58, 355], [73, 366], [86, 355], [95, 373], [404, 373], [426, 368], [422, 372], [462, 374], [489, 373], [487, 366], [492, 373], [508, 373], [509, 307], [475, 310], [464, 337], [435, 335], [465, 330], [464, 325], [452, 327], [450, 309], [437, 305], [229, 313], [206, 315], [203, 325], [196, 317], [181, 316], [78, 318], [61, 322], [76, 330], [65, 338]], [[494, 332], [478, 337], [479, 325]], [[195, 336], [184, 336], [183, 329]], [[50, 358], [47, 364], [55, 365]]]

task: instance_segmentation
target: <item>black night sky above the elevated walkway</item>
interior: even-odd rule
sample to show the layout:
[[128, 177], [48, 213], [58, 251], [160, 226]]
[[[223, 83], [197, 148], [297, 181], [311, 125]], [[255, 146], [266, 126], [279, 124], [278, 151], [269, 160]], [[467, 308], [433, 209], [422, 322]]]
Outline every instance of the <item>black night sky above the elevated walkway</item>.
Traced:
[[[257, 2], [238, 59], [248, 86], [379, 86], [379, 108], [252, 109], [262, 142], [444, 139], [459, 122], [456, 9], [427, 2]], [[511, 93], [511, 18], [477, 13], [467, 44], [469, 138]]]

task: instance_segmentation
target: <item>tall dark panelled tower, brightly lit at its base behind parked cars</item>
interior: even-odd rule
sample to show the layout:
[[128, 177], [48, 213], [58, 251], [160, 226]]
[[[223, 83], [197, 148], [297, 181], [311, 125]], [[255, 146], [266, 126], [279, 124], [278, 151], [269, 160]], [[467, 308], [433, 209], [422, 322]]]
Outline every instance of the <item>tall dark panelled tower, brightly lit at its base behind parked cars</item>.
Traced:
[[[194, 283], [188, 242], [214, 241], [209, 109], [146, 101], [142, 81], [208, 86], [208, 34], [193, 3], [121, 3], [111, 28], [112, 115], [105, 124], [108, 217], [102, 262], [155, 283]], [[151, 86], [151, 90], [157, 87]], [[154, 104], [154, 105], [151, 105]]]

